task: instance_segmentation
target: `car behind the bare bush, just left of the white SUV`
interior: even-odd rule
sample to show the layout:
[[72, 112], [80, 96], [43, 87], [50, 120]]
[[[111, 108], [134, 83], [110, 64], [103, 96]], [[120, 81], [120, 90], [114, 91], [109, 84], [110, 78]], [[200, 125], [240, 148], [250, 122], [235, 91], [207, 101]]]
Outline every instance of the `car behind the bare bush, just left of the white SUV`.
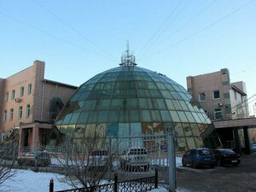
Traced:
[[98, 171], [108, 169], [110, 165], [110, 156], [107, 150], [91, 151], [89, 156], [89, 168], [90, 170], [96, 169]]

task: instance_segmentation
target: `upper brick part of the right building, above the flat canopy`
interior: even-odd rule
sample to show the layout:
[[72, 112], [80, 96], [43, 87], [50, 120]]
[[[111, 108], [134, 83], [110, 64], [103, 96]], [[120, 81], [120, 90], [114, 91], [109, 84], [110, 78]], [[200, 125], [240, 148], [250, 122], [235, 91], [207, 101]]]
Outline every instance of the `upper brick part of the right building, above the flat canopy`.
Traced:
[[246, 84], [230, 83], [229, 70], [187, 77], [188, 91], [212, 120], [249, 117]]

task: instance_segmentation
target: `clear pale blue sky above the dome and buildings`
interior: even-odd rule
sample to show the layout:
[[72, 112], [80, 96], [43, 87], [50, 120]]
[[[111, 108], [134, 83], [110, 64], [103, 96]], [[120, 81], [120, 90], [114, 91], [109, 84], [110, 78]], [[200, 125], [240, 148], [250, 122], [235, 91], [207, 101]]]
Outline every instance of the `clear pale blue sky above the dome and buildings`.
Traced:
[[118, 67], [126, 40], [139, 67], [186, 77], [229, 68], [256, 94], [256, 1], [0, 0], [0, 78], [46, 62], [45, 78], [80, 85]]

